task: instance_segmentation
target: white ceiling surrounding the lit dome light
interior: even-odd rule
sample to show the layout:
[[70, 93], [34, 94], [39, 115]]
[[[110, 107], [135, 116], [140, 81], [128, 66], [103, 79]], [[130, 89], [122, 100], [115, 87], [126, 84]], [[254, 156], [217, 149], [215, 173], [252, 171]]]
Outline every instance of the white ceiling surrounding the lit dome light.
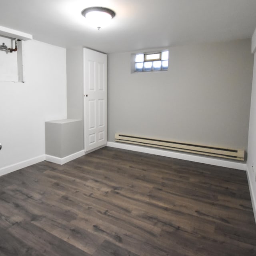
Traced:
[[[90, 6], [116, 16], [98, 31], [81, 15]], [[0, 0], [0, 26], [65, 48], [136, 51], [251, 38], [256, 0]]]

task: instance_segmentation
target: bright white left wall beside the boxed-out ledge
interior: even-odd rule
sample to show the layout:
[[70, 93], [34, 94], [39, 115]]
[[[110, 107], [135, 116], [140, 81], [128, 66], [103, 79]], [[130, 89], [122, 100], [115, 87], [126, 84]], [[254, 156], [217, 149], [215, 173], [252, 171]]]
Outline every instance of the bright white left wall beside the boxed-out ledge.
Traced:
[[0, 82], [0, 169], [45, 154], [44, 122], [66, 118], [66, 49], [24, 42], [25, 83]]

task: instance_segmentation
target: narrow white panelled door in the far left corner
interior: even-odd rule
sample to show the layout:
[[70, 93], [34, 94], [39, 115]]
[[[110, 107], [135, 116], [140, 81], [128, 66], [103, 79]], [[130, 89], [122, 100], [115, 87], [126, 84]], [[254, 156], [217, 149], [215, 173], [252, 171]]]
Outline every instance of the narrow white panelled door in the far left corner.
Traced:
[[84, 150], [107, 143], [107, 55], [84, 48]]

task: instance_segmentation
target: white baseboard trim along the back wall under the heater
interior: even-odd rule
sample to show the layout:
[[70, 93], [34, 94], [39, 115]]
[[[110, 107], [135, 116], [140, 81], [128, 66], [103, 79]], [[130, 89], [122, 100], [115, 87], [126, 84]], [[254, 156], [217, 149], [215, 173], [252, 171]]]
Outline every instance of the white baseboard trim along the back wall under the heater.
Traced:
[[167, 156], [171, 158], [178, 158], [182, 160], [188, 160], [192, 162], [198, 162], [202, 164], [212, 164], [216, 166], [222, 166], [227, 168], [233, 168], [238, 170], [244, 170], [246, 171], [246, 164], [240, 163], [240, 162], [233, 162], [228, 160], [222, 160], [222, 159], [216, 159], [216, 158], [210, 158], [210, 157], [203, 157], [203, 156], [196, 156], [192, 154], [184, 154], [180, 152], [174, 152], [170, 150], [162, 150], [158, 148], [148, 148], [143, 146], [136, 146], [136, 145], [130, 145], [120, 142], [107, 142], [107, 146], [112, 148], [121, 148], [126, 150], [132, 150], [137, 152], [143, 152], [148, 154], [154, 154], [158, 156]]

